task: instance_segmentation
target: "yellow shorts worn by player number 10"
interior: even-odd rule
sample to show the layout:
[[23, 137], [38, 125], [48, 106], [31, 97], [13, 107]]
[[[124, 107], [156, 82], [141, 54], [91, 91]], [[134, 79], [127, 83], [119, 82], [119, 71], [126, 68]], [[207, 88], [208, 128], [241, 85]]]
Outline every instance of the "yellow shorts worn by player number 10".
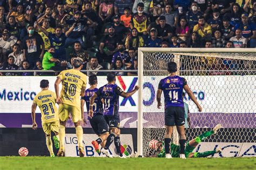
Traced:
[[73, 123], [82, 120], [81, 108], [76, 106], [71, 106], [67, 104], [59, 105], [59, 120], [66, 121], [69, 119], [69, 113], [72, 115]]

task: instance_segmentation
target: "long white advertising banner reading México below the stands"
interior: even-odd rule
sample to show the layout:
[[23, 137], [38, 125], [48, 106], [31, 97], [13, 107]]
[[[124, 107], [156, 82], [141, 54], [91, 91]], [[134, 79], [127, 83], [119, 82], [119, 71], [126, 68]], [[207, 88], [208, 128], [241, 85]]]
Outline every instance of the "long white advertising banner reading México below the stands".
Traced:
[[[194, 96], [203, 106], [205, 113], [255, 113], [256, 111], [256, 76], [187, 76], [188, 85]], [[157, 109], [156, 92], [163, 76], [144, 77], [143, 105], [146, 112], [163, 112]], [[42, 79], [50, 81], [49, 89], [54, 91], [56, 77], [0, 77], [0, 113], [30, 113], [31, 104], [36, 93], [41, 91]], [[107, 83], [106, 77], [98, 77], [98, 87]], [[138, 78], [132, 76], [117, 77], [116, 83], [127, 92], [138, 84]], [[61, 86], [61, 85], [60, 85]], [[89, 84], [87, 84], [89, 87]], [[142, 88], [142, 87], [141, 87]], [[162, 96], [163, 97], [163, 96]], [[196, 106], [188, 95], [185, 101], [190, 112], [197, 112]], [[164, 99], [162, 99], [164, 103]], [[120, 112], [138, 111], [138, 92], [124, 99], [119, 98]], [[37, 109], [39, 113], [39, 109]]]

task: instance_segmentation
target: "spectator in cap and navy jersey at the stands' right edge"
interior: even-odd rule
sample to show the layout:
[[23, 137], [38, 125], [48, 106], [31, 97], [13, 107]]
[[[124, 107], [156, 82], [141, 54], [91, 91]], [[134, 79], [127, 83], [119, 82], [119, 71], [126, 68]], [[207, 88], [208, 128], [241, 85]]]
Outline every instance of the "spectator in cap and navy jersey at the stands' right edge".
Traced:
[[241, 18], [242, 22], [236, 27], [242, 30], [242, 36], [247, 39], [247, 42], [250, 42], [250, 47], [254, 48], [256, 47], [256, 25], [248, 22], [247, 13], [243, 13]]

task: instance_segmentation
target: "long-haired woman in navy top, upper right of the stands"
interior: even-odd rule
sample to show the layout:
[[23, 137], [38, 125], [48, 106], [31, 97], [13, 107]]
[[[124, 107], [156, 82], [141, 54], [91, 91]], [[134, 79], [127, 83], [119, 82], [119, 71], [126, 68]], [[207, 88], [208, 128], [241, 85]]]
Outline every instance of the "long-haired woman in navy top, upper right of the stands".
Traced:
[[230, 24], [235, 26], [241, 22], [241, 15], [242, 15], [242, 10], [239, 4], [234, 3], [232, 5], [231, 12], [226, 13], [224, 17], [228, 17], [230, 19]]

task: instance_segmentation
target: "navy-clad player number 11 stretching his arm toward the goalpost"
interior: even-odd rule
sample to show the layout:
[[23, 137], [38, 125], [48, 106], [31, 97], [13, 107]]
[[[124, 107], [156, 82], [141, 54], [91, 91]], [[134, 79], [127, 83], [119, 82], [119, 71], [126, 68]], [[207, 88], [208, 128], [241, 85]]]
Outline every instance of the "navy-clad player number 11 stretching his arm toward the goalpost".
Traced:
[[107, 81], [108, 83], [102, 87], [99, 88], [99, 90], [93, 94], [90, 100], [90, 110], [89, 110], [89, 116], [93, 117], [93, 104], [95, 103], [95, 99], [97, 97], [103, 98], [104, 100], [104, 118], [109, 124], [110, 128], [110, 135], [107, 137], [106, 145], [102, 149], [102, 152], [107, 157], [112, 157], [109, 153], [109, 146], [114, 141], [114, 145], [117, 149], [117, 154], [120, 158], [123, 157], [123, 154], [121, 153], [120, 149], [120, 119], [119, 119], [119, 96], [122, 96], [124, 98], [132, 96], [135, 92], [139, 90], [139, 86], [135, 86], [134, 89], [130, 92], [123, 92], [122, 89], [118, 85], [116, 85], [116, 76], [112, 73], [107, 74]]

